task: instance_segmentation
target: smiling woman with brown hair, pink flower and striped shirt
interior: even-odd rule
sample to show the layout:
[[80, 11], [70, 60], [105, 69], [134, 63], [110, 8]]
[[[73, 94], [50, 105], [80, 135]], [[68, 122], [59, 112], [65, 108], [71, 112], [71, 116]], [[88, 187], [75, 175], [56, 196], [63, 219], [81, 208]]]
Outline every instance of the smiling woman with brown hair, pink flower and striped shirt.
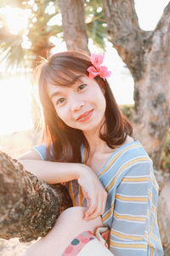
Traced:
[[86, 207], [83, 219], [102, 216], [111, 253], [163, 255], [152, 161], [116, 104], [103, 58], [66, 51], [42, 63], [44, 143], [20, 162], [46, 183], [65, 183], [73, 206]]

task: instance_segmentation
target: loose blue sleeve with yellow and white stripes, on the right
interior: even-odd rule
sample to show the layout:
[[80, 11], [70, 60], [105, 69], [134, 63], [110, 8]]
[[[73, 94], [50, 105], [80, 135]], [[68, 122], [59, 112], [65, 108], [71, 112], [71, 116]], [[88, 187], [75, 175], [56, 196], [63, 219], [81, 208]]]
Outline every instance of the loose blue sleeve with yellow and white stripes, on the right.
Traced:
[[116, 256], [146, 256], [150, 162], [138, 163], [116, 188], [110, 249]]

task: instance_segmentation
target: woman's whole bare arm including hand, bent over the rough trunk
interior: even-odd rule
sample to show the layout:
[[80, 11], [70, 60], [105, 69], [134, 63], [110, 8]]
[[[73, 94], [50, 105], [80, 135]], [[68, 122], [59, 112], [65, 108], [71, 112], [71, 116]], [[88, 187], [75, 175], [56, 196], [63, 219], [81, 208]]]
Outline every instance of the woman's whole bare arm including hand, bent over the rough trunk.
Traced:
[[18, 159], [26, 171], [33, 173], [45, 183], [65, 183], [74, 179], [82, 187], [83, 195], [89, 202], [85, 218], [92, 219], [105, 212], [107, 193], [93, 170], [80, 163], [59, 163], [40, 160], [35, 150]]

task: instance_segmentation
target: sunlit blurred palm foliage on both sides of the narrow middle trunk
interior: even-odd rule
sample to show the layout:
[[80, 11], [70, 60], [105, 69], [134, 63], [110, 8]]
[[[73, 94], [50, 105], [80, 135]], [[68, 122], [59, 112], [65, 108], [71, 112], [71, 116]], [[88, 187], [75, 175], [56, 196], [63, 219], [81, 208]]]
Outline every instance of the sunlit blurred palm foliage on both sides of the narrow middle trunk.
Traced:
[[[57, 0], [1, 0], [0, 8], [4, 6], [20, 8], [29, 12], [28, 26], [22, 29], [19, 34], [14, 35], [8, 31], [5, 25], [5, 18], [0, 15], [0, 61], [5, 61], [7, 70], [11, 67], [33, 67], [38, 56], [46, 57], [48, 51], [53, 48], [49, 42], [50, 37], [64, 40], [60, 24], [49, 26], [49, 21], [59, 15]], [[48, 11], [49, 7], [53, 11]], [[107, 37], [105, 17], [101, 0], [84, 1], [88, 38], [92, 38], [94, 44], [100, 49], [105, 49], [105, 38]], [[24, 38], [31, 44], [31, 47], [23, 47]]]

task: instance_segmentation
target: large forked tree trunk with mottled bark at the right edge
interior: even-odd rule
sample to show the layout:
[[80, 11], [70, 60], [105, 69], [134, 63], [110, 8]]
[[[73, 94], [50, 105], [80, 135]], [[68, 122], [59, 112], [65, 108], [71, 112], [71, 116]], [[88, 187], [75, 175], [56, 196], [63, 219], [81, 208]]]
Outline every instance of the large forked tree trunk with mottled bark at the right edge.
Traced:
[[170, 3], [153, 32], [139, 28], [133, 0], [103, 0], [111, 43], [134, 79], [134, 136], [161, 163], [170, 124]]

